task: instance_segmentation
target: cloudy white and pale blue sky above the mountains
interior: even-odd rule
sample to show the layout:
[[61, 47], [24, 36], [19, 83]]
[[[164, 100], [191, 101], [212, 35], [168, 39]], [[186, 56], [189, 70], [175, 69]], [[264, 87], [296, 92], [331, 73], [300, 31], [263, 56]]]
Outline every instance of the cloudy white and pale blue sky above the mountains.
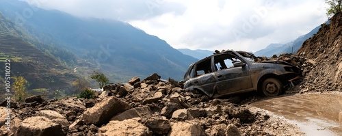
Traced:
[[175, 49], [258, 51], [327, 20], [324, 0], [25, 0], [75, 16], [115, 19]]

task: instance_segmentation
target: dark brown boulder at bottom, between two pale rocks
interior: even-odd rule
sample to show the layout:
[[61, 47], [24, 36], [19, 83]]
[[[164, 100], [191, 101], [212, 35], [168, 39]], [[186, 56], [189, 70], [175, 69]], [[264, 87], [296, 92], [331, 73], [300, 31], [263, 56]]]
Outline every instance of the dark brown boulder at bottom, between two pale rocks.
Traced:
[[157, 135], [166, 135], [171, 129], [170, 122], [165, 117], [149, 118], [144, 124]]

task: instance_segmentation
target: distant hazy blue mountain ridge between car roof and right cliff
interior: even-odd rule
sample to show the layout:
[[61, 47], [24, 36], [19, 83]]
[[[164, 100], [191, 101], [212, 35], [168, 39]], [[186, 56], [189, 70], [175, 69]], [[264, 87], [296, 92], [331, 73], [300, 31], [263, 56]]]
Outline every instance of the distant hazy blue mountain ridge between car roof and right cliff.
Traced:
[[265, 49], [255, 52], [254, 55], [272, 57], [274, 54], [280, 55], [281, 53], [297, 53], [303, 42], [317, 33], [319, 28], [321, 28], [321, 26], [315, 27], [315, 29], [311, 30], [309, 33], [306, 33], [304, 36], [300, 36], [299, 38], [286, 44], [269, 44], [269, 46], [267, 46]]

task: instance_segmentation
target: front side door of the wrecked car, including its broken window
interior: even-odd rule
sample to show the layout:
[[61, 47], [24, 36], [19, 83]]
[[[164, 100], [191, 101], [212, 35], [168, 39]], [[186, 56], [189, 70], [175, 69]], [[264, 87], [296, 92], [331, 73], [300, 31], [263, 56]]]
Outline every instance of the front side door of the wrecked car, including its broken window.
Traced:
[[[222, 61], [223, 59], [224, 61]], [[248, 65], [234, 67], [233, 64], [227, 64], [228, 62], [234, 61], [244, 62], [244, 59], [239, 59], [237, 55], [233, 55], [231, 53], [218, 55], [214, 58], [215, 64], [218, 64], [218, 62], [224, 62], [226, 67], [229, 66], [228, 68], [215, 68], [217, 69], [214, 74], [217, 78], [216, 87], [218, 94], [237, 92], [239, 90], [246, 90], [252, 87]]]

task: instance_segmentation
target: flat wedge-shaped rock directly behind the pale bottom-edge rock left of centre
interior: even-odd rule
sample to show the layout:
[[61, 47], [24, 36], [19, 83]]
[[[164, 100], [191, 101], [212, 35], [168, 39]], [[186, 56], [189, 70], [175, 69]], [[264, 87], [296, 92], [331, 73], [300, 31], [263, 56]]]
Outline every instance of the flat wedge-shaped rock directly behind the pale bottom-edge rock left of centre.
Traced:
[[144, 106], [144, 107], [137, 107], [133, 109], [129, 109], [127, 111], [124, 111], [113, 118], [111, 120], [127, 120], [131, 118], [150, 118], [152, 117], [152, 111], [150, 110], [150, 107]]

